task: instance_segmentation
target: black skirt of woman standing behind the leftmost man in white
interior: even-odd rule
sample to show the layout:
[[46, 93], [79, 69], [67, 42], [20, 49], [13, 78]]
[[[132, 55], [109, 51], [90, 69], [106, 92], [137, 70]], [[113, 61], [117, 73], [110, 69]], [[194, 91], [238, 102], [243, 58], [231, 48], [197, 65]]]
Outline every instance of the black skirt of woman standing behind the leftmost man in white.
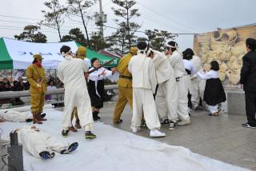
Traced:
[[94, 81], [89, 81], [88, 82], [88, 92], [90, 96], [90, 103], [91, 106], [101, 109], [103, 107], [103, 101], [105, 97], [105, 90], [104, 90], [104, 81], [103, 80], [98, 80], [97, 82], [97, 91], [98, 94], [96, 93], [96, 86]]

